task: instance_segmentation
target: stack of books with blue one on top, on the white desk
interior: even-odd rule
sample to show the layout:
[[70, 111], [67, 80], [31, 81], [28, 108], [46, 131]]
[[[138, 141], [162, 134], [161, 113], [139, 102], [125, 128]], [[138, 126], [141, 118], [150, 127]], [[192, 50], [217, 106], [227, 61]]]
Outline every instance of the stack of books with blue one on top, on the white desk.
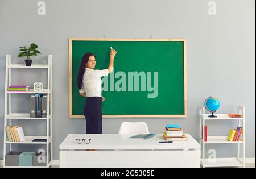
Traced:
[[167, 124], [164, 131], [164, 139], [172, 141], [184, 141], [188, 138], [183, 134], [183, 130], [179, 124]]

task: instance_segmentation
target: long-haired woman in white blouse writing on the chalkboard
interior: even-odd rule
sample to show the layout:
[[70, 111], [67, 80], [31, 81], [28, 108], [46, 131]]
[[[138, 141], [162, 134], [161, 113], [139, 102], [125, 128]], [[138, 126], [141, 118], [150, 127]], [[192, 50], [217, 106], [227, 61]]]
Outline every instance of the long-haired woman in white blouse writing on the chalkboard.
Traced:
[[82, 57], [77, 86], [79, 93], [86, 97], [84, 116], [86, 120], [86, 134], [102, 134], [102, 102], [105, 100], [101, 95], [101, 77], [108, 76], [113, 72], [114, 57], [117, 54], [113, 48], [110, 51], [108, 69], [94, 70], [96, 56], [93, 53], [85, 53]]

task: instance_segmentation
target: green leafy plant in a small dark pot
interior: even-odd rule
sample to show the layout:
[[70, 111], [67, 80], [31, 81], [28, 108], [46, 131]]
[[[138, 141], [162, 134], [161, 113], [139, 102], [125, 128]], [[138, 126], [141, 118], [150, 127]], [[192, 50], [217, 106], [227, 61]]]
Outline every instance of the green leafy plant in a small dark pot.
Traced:
[[19, 47], [20, 48], [20, 52], [19, 53], [19, 57], [27, 57], [27, 59], [25, 60], [26, 66], [31, 66], [32, 60], [30, 59], [30, 56], [37, 56], [38, 54], [41, 54], [41, 52], [39, 52], [38, 50], [36, 50], [36, 48], [38, 48], [38, 45], [32, 43], [30, 45], [30, 47]]

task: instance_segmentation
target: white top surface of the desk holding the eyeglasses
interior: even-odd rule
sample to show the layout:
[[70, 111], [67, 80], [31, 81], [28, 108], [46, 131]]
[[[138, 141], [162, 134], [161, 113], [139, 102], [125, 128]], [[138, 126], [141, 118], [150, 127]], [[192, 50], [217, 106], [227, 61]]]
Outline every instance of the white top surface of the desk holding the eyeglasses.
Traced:
[[[191, 135], [185, 134], [187, 141], [173, 141], [173, 143], [159, 143], [165, 141], [163, 134], [156, 134], [153, 138], [130, 139], [136, 134], [69, 134], [60, 144], [60, 150], [72, 149], [200, 149]], [[89, 144], [77, 144], [76, 139], [92, 139]]]

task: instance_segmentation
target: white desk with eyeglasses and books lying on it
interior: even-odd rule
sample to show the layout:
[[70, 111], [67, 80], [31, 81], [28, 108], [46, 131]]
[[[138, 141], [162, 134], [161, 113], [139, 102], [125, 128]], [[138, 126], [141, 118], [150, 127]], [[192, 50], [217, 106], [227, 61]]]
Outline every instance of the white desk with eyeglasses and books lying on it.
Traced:
[[[129, 139], [133, 135], [69, 134], [60, 144], [60, 167], [200, 167], [200, 144], [189, 134], [185, 134], [187, 141], [173, 143], [159, 143], [164, 141], [163, 134]], [[92, 140], [77, 144], [77, 138]]]

